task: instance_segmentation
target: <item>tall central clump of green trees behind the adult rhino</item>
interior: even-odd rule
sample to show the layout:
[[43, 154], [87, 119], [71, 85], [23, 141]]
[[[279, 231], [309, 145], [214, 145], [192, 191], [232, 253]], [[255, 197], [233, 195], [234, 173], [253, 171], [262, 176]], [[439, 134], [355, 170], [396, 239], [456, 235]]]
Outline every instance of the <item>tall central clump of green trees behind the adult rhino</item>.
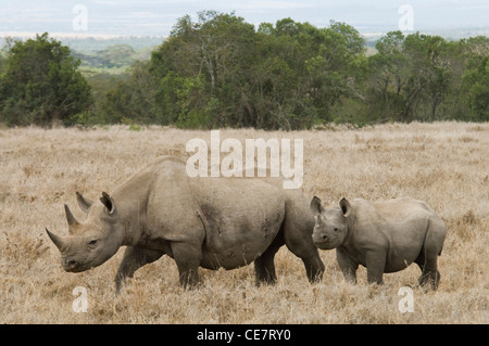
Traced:
[[363, 39], [351, 26], [291, 18], [258, 30], [234, 13], [178, 20], [152, 54], [156, 103], [180, 127], [308, 128], [359, 93]]

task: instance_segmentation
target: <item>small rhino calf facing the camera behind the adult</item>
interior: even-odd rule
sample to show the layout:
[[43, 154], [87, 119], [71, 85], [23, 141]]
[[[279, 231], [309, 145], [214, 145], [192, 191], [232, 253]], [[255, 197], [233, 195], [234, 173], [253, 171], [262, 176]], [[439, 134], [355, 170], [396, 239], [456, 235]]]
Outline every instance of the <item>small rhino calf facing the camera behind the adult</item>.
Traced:
[[366, 267], [369, 283], [383, 283], [383, 273], [396, 272], [413, 261], [421, 270], [419, 284], [436, 290], [440, 281], [437, 259], [447, 233], [443, 220], [424, 202], [396, 198], [383, 202], [341, 198], [339, 208], [325, 209], [314, 197], [314, 244], [336, 248], [344, 278], [356, 282], [359, 265]]

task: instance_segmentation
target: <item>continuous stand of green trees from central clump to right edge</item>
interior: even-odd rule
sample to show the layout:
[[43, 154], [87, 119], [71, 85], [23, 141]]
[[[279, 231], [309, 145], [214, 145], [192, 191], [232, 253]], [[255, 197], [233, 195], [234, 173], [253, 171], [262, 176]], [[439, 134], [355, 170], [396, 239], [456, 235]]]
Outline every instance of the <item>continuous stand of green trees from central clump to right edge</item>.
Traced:
[[[184, 16], [152, 53], [141, 88], [154, 100], [145, 121], [287, 130], [324, 121], [489, 120], [488, 38], [391, 31], [375, 54], [367, 57], [364, 47], [343, 23], [317, 28], [286, 18], [254, 28], [233, 13]], [[138, 85], [135, 78], [121, 85]]]

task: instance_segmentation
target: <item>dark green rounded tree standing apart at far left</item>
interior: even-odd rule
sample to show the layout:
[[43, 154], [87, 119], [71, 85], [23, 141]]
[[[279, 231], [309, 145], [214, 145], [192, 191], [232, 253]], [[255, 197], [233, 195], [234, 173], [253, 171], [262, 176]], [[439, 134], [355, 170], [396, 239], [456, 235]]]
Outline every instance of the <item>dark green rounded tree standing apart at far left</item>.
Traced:
[[79, 61], [70, 48], [48, 33], [25, 42], [15, 41], [0, 76], [0, 120], [9, 125], [72, 125], [88, 112], [90, 87], [77, 71]]

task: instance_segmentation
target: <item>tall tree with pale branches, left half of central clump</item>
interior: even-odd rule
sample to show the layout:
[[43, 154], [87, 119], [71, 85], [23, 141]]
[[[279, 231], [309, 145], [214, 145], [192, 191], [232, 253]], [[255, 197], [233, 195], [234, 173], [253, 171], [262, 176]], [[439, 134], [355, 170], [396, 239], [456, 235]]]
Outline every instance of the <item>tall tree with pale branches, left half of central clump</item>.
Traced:
[[193, 127], [199, 119], [201, 127], [242, 119], [253, 36], [253, 26], [233, 13], [204, 11], [197, 22], [188, 15], [178, 20], [151, 59], [161, 112], [174, 114], [181, 127]]

